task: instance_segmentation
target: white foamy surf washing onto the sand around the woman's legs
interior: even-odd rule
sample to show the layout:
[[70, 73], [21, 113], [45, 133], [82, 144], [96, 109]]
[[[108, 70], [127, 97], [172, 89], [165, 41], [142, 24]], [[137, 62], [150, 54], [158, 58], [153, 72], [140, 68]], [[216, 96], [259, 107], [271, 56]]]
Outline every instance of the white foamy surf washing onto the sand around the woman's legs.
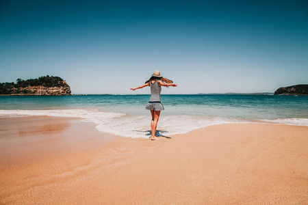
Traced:
[[[97, 130], [124, 137], [149, 137], [150, 115], [126, 115], [125, 113], [103, 112], [97, 109], [60, 109], [60, 110], [0, 110], [0, 117], [55, 116], [82, 118], [85, 122], [94, 122]], [[196, 128], [213, 124], [256, 122], [235, 118], [213, 118], [193, 115], [161, 115], [157, 126], [158, 135], [188, 133]], [[307, 118], [287, 118], [277, 120], [257, 120], [268, 124], [290, 124], [308, 126]]]

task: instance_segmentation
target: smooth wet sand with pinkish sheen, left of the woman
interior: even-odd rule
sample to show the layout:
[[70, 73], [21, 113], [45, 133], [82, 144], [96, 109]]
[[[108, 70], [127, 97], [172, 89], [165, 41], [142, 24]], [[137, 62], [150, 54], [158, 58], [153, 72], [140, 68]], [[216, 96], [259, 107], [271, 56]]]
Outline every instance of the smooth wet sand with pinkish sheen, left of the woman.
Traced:
[[0, 118], [0, 169], [97, 148], [105, 136], [75, 118]]

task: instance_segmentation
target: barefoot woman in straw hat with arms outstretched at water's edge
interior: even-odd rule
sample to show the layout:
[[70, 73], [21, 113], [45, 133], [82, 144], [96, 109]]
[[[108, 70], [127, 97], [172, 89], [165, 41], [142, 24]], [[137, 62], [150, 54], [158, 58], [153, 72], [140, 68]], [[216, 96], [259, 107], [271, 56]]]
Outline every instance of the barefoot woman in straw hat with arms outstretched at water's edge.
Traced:
[[173, 81], [170, 81], [169, 79], [160, 76], [160, 72], [158, 70], [155, 70], [149, 81], [146, 81], [144, 85], [140, 85], [139, 87], [131, 88], [131, 90], [137, 90], [146, 86], [151, 87], [151, 98], [149, 100], [148, 105], [146, 105], [145, 109], [149, 109], [151, 111], [152, 115], [151, 139], [155, 140], [156, 139], [155, 132], [157, 128], [157, 122], [160, 115], [160, 111], [164, 110], [164, 106], [160, 102], [160, 92], [162, 91], [161, 86], [177, 87], [177, 85], [173, 84]]

